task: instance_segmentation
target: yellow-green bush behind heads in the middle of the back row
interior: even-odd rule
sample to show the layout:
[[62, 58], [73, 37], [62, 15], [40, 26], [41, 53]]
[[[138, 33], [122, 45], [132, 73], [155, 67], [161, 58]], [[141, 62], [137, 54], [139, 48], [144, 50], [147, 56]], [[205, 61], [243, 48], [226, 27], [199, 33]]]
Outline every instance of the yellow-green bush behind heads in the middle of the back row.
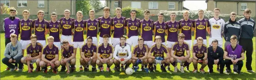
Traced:
[[[136, 16], [141, 16], [143, 15], [143, 10], [142, 9], [138, 9], [138, 8], [131, 8], [131, 6], [127, 6], [125, 8], [122, 8], [122, 16], [124, 17], [130, 17], [130, 11], [131, 9], [135, 9], [137, 10]], [[114, 10], [115, 11], [115, 10]], [[116, 15], [116, 14], [114, 14]]]

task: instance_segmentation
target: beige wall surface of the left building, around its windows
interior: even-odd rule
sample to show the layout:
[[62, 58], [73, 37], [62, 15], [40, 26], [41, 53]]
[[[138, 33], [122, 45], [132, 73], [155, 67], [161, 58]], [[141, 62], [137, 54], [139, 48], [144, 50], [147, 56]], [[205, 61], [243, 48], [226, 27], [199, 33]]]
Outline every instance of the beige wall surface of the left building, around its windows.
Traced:
[[[73, 6], [75, 6], [75, 1], [73, 2]], [[39, 8], [38, 0], [27, 0], [27, 7], [20, 8], [17, 7], [17, 0], [10, 0], [10, 7], [16, 8], [18, 14], [22, 14], [23, 10], [29, 10], [30, 14], [37, 14], [37, 11], [39, 10], [43, 10], [46, 14], [51, 14], [52, 12], [57, 12], [57, 14], [64, 14], [65, 9], [71, 10], [71, 0], [49, 0], [49, 2], [48, 0], [45, 0], [44, 3], [45, 7]], [[75, 11], [75, 7], [72, 9], [72, 11]]]

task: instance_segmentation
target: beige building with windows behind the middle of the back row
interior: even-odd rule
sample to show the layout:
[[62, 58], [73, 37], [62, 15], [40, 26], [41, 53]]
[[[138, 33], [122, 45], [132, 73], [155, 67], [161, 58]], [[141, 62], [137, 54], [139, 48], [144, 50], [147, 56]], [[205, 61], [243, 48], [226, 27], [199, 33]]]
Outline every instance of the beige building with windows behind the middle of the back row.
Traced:
[[[142, 10], [150, 10], [151, 14], [157, 15], [159, 11], [182, 11], [188, 10], [183, 7], [185, 0], [106, 0], [106, 6], [110, 8], [110, 13], [114, 14], [115, 8], [121, 4], [122, 8], [131, 6]], [[96, 15], [102, 15], [103, 8], [96, 11]]]

